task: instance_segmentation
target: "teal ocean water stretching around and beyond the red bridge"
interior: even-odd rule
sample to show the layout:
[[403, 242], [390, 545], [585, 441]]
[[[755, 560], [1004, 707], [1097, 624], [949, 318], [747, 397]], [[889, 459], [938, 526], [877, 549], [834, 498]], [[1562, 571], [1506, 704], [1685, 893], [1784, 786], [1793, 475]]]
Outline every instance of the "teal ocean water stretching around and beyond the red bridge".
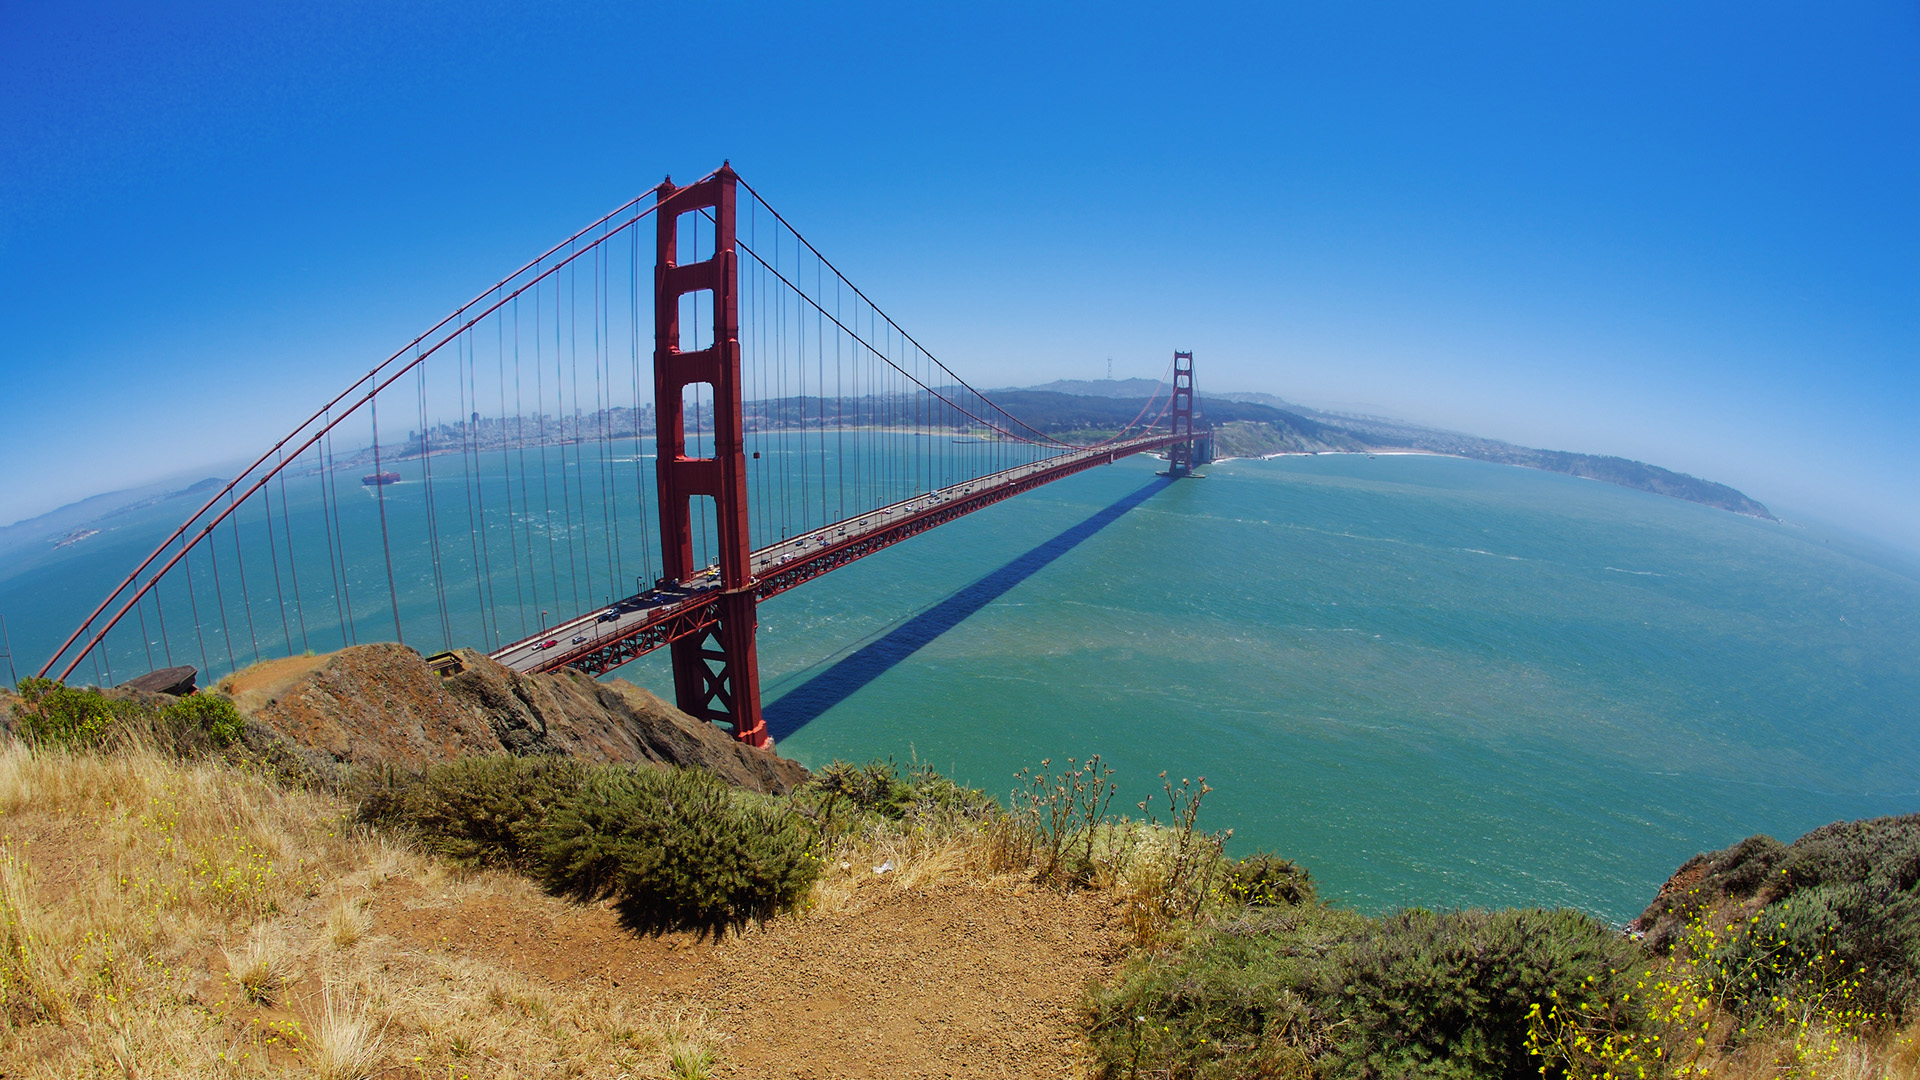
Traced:
[[[1206, 776], [1202, 822], [1235, 851], [1300, 859], [1369, 911], [1619, 922], [1695, 851], [1920, 811], [1914, 578], [1793, 527], [1475, 461], [1227, 461], [1177, 484], [1156, 465], [1083, 473], [768, 601], [781, 751], [918, 759], [995, 792], [1100, 753], [1119, 805], [1162, 771]], [[21, 659], [182, 513], [10, 555]], [[397, 559], [411, 625], [426, 578]], [[384, 603], [384, 578], [349, 569], [378, 640], [363, 596]], [[664, 671], [620, 675], [664, 690]]]

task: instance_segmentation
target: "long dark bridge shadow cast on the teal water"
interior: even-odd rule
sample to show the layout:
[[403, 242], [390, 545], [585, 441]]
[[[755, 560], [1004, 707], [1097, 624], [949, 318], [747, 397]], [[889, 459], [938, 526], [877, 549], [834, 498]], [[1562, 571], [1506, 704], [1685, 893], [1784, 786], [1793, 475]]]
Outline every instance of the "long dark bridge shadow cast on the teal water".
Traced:
[[987, 607], [1010, 588], [1033, 577], [1041, 567], [1052, 563], [1060, 555], [1066, 555], [1079, 546], [1081, 540], [1100, 532], [1119, 519], [1119, 515], [1150, 500], [1167, 484], [1171, 484], [1169, 479], [1154, 477], [1152, 482], [1121, 496], [1112, 505], [1098, 509], [1052, 540], [1020, 553], [1004, 567], [960, 588], [947, 600], [941, 600], [933, 607], [927, 607], [920, 615], [900, 623], [887, 634], [860, 646], [847, 657], [833, 663], [833, 667], [795, 686], [778, 701], [766, 705], [768, 734], [772, 734], [778, 742], [820, 719], [828, 709], [839, 705], [847, 698], [852, 698], [862, 686], [874, 682], [906, 657], [933, 644], [941, 634], [966, 621], [968, 615]]

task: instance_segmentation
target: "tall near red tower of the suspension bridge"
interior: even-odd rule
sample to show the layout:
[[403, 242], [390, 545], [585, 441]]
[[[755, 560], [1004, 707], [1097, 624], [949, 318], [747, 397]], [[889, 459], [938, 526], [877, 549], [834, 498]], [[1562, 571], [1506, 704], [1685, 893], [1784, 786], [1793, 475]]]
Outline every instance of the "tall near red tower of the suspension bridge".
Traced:
[[[733, 248], [733, 196], [739, 177], [722, 165], [684, 188], [672, 179], [655, 188], [659, 252], [653, 267], [653, 409], [655, 471], [660, 492], [660, 550], [666, 578], [680, 582], [693, 565], [693, 498], [714, 500], [720, 538], [720, 619], [676, 640], [674, 700], [684, 713], [733, 728], [733, 738], [766, 746], [760, 717], [758, 615], [753, 596], [753, 548], [747, 532], [747, 455], [739, 379], [739, 254]], [[680, 265], [680, 217], [707, 211], [714, 221], [710, 259]], [[712, 344], [680, 350], [680, 298], [712, 294]], [[687, 457], [684, 390], [705, 382], [714, 402], [712, 457]]]

